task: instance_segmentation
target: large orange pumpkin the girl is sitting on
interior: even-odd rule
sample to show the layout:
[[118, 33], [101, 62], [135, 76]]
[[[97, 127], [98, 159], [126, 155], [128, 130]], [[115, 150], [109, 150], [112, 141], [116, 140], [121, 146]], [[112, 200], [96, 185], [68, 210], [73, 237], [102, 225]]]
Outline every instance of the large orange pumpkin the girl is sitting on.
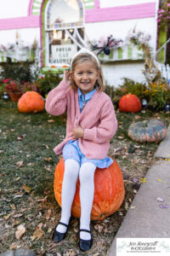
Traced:
[[[54, 195], [61, 206], [61, 188], [65, 172], [64, 160], [59, 160], [54, 173]], [[77, 181], [77, 190], [72, 204], [71, 213], [80, 218], [81, 206], [79, 198], [80, 182]], [[123, 185], [122, 171], [116, 160], [105, 169], [97, 168], [94, 174], [94, 203], [91, 219], [101, 220], [116, 212], [122, 205], [125, 190]]]

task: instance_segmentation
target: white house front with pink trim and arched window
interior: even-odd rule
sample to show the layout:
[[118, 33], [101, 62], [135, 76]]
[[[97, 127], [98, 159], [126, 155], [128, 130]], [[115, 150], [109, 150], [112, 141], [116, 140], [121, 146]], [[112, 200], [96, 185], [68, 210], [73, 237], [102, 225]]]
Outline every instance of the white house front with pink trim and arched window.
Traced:
[[142, 52], [127, 38], [133, 31], [149, 34], [150, 47], [156, 53], [158, 7], [159, 0], [3, 1], [0, 61], [8, 56], [12, 61], [29, 60], [32, 45], [37, 44], [42, 73], [59, 73], [78, 49], [101, 44], [112, 35], [121, 39], [122, 45], [99, 54], [107, 84], [122, 84], [123, 77], [142, 82]]

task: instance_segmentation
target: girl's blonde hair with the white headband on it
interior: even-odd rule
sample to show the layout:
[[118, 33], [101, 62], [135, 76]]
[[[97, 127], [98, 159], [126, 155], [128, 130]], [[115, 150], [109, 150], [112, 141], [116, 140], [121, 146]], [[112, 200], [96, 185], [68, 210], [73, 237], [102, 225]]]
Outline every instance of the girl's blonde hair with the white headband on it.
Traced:
[[[74, 73], [77, 64], [82, 63], [84, 61], [92, 61], [94, 63], [97, 72], [99, 71], [99, 79], [97, 79], [96, 81], [97, 87], [101, 91], [105, 90], [105, 79], [102, 73], [101, 65], [95, 60], [93, 55], [89, 55], [88, 53], [82, 53], [77, 55], [71, 63], [71, 72]], [[77, 84], [73, 79], [71, 79], [71, 88], [77, 89]]]

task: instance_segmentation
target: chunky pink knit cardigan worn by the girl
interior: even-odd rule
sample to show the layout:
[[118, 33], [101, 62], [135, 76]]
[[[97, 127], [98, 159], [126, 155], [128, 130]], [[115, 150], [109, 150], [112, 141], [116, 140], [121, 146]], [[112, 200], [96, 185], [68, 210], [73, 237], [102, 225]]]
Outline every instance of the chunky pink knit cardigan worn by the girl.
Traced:
[[105, 158], [117, 129], [115, 110], [105, 92], [97, 90], [80, 113], [78, 90], [71, 89], [69, 84], [61, 81], [48, 93], [45, 108], [52, 115], [67, 112], [66, 136], [54, 148], [55, 154], [61, 154], [65, 143], [74, 140], [72, 130], [80, 125], [84, 130], [83, 138], [78, 139], [82, 153], [88, 159]]

